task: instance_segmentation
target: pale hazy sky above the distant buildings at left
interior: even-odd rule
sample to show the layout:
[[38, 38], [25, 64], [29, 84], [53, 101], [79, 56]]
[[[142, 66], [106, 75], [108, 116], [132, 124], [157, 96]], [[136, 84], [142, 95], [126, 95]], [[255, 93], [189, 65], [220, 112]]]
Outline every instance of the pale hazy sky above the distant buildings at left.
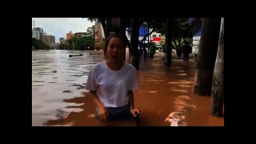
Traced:
[[60, 37], [66, 38], [70, 30], [73, 34], [86, 32], [88, 27], [94, 25], [94, 22], [82, 18], [32, 18], [33, 20], [35, 20], [36, 27], [43, 28], [48, 35], [55, 36], [56, 43], [59, 43]]

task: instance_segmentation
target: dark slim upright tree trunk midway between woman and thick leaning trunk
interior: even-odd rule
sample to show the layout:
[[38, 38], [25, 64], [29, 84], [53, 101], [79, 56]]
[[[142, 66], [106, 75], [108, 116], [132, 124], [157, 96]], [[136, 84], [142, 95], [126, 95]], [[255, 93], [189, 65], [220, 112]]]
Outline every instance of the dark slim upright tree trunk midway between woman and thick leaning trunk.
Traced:
[[165, 66], [171, 67], [172, 61], [172, 19], [166, 19], [166, 32], [165, 32]]

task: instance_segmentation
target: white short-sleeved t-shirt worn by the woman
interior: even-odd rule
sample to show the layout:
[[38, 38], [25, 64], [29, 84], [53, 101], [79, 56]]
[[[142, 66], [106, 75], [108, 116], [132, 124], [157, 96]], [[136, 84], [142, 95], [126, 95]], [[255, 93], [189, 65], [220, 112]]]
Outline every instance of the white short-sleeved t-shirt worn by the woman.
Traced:
[[137, 90], [136, 70], [129, 63], [111, 70], [106, 61], [95, 65], [89, 74], [86, 89], [97, 91], [100, 101], [105, 107], [122, 107], [128, 104], [128, 91]]

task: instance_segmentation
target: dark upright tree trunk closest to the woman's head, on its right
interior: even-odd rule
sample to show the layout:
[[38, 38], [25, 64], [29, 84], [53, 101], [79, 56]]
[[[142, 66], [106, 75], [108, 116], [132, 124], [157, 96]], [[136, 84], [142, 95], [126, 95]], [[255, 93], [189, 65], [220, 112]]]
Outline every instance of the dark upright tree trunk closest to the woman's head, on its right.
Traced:
[[139, 41], [139, 19], [131, 18], [131, 53], [130, 53], [130, 63], [139, 69], [139, 50], [138, 50], [138, 41]]

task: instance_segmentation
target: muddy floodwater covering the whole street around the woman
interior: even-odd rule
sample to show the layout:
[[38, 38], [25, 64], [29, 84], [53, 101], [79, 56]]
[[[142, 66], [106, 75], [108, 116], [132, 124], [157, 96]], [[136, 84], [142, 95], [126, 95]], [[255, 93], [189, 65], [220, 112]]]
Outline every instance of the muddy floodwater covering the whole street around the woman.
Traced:
[[[94, 118], [95, 104], [81, 92], [86, 91], [91, 67], [103, 60], [103, 54], [90, 53], [102, 51], [32, 52], [33, 126], [136, 126], [134, 119], [106, 123]], [[183, 61], [173, 54], [172, 67], [164, 67], [162, 52], [146, 61], [142, 57], [137, 70], [139, 90], [134, 91], [141, 126], [170, 126], [177, 119], [178, 126], [223, 126], [224, 117], [210, 115], [210, 97], [193, 94], [194, 75], [193, 57]], [[168, 117], [172, 112], [181, 113]]]

